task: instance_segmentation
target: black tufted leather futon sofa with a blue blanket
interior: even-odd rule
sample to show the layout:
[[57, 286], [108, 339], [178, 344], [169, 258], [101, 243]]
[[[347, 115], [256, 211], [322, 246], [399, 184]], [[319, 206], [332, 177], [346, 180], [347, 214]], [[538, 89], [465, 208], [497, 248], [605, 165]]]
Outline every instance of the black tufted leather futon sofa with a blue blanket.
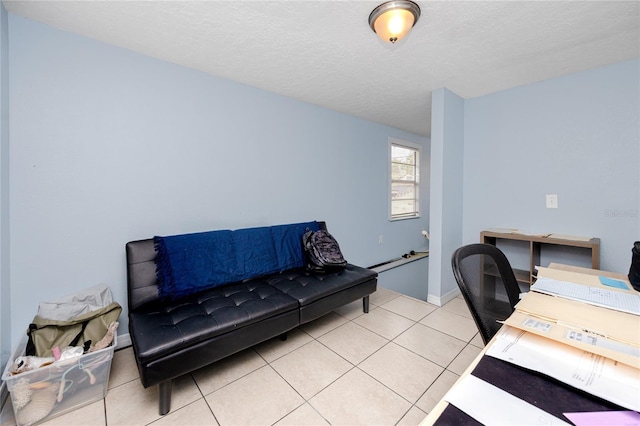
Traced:
[[154, 239], [131, 241], [126, 257], [129, 333], [143, 386], [159, 385], [161, 415], [171, 409], [172, 379], [274, 337], [285, 340], [293, 328], [357, 299], [366, 313], [377, 286], [376, 272], [355, 265], [330, 273], [303, 266], [167, 299], [159, 295], [156, 247]]

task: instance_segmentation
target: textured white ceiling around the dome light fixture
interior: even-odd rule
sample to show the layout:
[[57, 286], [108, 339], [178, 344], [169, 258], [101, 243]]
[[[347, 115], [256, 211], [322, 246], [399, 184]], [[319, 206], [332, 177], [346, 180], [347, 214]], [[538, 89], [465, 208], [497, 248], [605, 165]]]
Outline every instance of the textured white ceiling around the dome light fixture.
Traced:
[[[463, 98], [640, 57], [638, 1], [3, 1], [11, 13], [270, 92], [430, 135], [431, 92]], [[640, 78], [640, 76], [639, 76]]]

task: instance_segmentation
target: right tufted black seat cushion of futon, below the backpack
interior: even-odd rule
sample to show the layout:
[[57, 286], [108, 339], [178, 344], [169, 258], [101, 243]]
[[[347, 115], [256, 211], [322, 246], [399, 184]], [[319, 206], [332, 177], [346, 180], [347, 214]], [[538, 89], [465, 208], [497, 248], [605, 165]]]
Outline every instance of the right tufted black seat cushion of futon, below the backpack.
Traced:
[[309, 273], [304, 268], [292, 269], [266, 278], [270, 285], [288, 294], [304, 307], [366, 281], [375, 280], [377, 273], [348, 264], [344, 269], [326, 274]]

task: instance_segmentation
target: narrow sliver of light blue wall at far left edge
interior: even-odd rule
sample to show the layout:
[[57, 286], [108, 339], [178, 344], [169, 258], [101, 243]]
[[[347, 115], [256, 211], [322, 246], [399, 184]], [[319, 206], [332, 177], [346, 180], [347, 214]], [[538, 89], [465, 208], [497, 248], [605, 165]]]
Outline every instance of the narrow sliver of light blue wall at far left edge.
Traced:
[[[11, 354], [9, 285], [9, 48], [7, 10], [0, 4], [0, 371]], [[0, 398], [0, 403], [2, 398]]]

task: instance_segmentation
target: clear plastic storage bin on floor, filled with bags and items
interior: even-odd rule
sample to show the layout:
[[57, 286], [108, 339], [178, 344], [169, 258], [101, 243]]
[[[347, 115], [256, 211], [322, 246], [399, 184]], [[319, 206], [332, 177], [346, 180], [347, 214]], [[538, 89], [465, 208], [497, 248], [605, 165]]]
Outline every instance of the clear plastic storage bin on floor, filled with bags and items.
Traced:
[[50, 420], [106, 396], [117, 336], [99, 351], [12, 375], [12, 365], [25, 354], [26, 345], [25, 336], [2, 374], [19, 426]]

